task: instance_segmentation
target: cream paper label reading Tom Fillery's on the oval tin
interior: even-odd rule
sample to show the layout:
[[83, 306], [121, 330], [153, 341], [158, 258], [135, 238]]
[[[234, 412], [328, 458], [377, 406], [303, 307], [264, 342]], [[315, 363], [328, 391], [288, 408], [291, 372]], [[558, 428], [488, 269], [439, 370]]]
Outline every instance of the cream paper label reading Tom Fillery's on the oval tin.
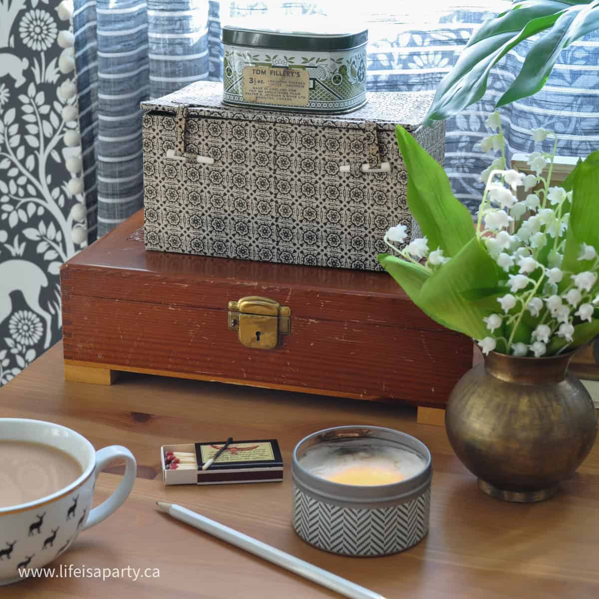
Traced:
[[282, 66], [244, 66], [243, 99], [253, 104], [307, 106], [308, 71]]

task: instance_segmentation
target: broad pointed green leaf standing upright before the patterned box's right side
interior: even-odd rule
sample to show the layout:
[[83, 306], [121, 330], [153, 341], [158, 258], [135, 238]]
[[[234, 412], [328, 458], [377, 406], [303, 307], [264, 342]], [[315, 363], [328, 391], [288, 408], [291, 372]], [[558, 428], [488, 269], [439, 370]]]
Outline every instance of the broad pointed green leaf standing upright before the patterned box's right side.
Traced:
[[408, 171], [407, 203], [428, 237], [431, 250], [455, 256], [474, 237], [468, 209], [452, 193], [447, 175], [401, 125], [395, 129], [397, 144]]

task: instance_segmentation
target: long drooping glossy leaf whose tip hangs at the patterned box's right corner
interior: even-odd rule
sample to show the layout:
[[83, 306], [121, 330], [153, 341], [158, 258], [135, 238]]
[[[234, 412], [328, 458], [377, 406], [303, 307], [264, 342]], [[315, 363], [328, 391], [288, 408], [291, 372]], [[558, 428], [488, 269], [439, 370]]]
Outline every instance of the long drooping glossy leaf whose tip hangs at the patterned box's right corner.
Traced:
[[491, 68], [521, 41], [549, 29], [570, 7], [558, 0], [525, 0], [486, 21], [437, 87], [425, 122], [447, 119], [479, 101]]

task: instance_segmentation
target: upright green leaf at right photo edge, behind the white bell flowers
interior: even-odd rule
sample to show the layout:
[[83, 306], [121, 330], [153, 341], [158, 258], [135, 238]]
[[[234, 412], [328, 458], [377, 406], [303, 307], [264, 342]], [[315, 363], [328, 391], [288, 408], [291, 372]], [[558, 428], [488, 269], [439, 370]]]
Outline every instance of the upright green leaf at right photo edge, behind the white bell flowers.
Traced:
[[[588, 264], [578, 260], [580, 244], [586, 243], [599, 250], [599, 152], [593, 152], [577, 165], [574, 176], [572, 207], [566, 234], [564, 259], [561, 268], [571, 273], [580, 273]], [[564, 277], [560, 291], [570, 283]]]

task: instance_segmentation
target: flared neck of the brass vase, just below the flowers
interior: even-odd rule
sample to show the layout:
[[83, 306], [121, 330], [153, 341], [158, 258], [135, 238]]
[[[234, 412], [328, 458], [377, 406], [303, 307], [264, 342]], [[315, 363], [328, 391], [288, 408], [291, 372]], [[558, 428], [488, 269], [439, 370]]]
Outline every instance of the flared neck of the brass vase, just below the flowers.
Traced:
[[491, 352], [485, 358], [486, 370], [496, 379], [524, 385], [559, 383], [565, 379], [574, 352], [548, 358], [516, 358]]

